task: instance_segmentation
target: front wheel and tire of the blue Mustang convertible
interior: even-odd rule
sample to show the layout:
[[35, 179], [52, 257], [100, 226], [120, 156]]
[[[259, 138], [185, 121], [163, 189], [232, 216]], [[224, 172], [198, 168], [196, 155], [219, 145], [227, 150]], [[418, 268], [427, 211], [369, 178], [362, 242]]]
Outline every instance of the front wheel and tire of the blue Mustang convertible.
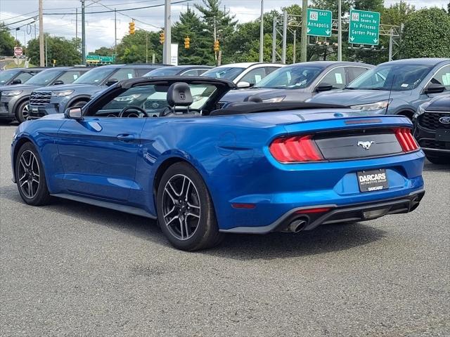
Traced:
[[[34, 160], [30, 157], [30, 153], [34, 155]], [[30, 160], [27, 158], [30, 158]], [[33, 206], [48, 204], [51, 197], [49, 190], [47, 189], [44, 166], [42, 166], [41, 158], [32, 143], [25, 143], [22, 147], [20, 147], [17, 157], [15, 158], [14, 169], [15, 182], [17, 183], [19, 194], [23, 201]], [[37, 182], [35, 181], [36, 176], [33, 174], [36, 172], [38, 173]], [[25, 177], [25, 179], [21, 178], [21, 176], [24, 175], [27, 175], [27, 177]], [[32, 177], [32, 187], [30, 187], [30, 177]], [[30, 188], [32, 193], [29, 193]]]

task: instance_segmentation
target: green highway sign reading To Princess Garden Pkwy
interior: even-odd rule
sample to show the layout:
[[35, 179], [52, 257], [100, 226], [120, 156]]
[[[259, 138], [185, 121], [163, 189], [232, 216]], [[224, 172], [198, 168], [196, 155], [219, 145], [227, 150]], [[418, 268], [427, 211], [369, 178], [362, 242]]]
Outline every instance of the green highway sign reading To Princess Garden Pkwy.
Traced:
[[352, 9], [350, 11], [349, 43], [378, 46], [380, 43], [380, 13]]

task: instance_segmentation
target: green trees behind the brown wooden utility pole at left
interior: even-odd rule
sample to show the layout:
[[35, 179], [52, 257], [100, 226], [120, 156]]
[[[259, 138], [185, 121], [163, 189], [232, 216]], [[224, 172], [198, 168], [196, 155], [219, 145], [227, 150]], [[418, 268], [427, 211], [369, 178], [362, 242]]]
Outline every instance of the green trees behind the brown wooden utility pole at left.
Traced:
[[[56, 60], [56, 65], [79, 65], [82, 62], [81, 39], [65, 39], [64, 37], [51, 37], [46, 34], [47, 58], [49, 65], [51, 60]], [[35, 65], [39, 65], [39, 39], [28, 42], [27, 56]]]

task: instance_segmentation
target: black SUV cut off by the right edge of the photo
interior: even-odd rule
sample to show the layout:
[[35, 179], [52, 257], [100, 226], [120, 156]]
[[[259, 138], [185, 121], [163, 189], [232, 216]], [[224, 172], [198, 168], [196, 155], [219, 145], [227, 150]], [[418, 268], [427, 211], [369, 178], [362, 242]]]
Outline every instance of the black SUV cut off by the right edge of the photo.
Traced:
[[413, 123], [414, 137], [427, 159], [434, 164], [450, 164], [450, 95], [420, 105]]

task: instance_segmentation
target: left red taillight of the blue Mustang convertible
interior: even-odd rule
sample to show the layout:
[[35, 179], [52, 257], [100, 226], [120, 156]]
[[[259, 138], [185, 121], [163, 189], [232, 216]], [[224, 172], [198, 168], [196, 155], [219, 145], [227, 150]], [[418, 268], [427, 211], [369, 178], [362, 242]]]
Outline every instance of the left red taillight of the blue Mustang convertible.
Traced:
[[311, 135], [277, 138], [269, 146], [270, 153], [281, 163], [321, 161], [323, 156]]

